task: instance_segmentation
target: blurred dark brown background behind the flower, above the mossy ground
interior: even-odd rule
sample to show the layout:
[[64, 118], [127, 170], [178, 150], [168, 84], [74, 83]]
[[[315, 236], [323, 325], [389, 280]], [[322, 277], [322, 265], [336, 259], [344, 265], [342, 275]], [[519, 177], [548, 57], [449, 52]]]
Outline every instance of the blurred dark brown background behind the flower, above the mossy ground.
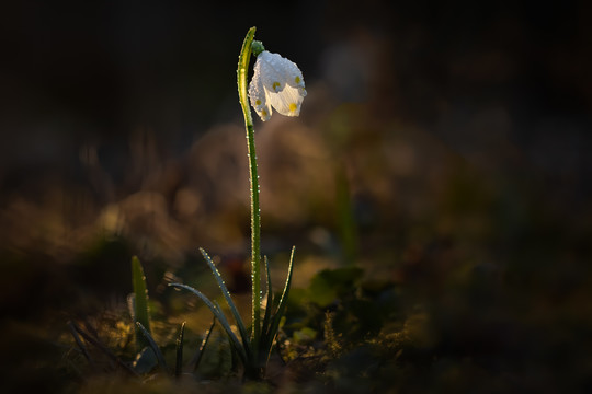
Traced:
[[255, 120], [263, 252], [298, 246], [296, 286], [357, 265], [432, 305], [451, 347], [494, 331], [527, 375], [592, 372], [590, 3], [1, 9], [2, 347], [124, 300], [132, 255], [153, 290], [203, 246], [244, 291], [236, 67], [257, 26], [308, 91], [299, 118]]

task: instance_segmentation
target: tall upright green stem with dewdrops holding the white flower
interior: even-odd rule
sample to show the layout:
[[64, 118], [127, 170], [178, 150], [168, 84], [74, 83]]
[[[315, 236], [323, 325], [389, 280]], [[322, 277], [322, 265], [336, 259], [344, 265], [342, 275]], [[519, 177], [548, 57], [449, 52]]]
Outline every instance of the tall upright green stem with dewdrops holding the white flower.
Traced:
[[252, 280], [252, 349], [253, 358], [257, 362], [259, 340], [261, 338], [261, 216], [259, 208], [259, 176], [257, 174], [257, 153], [254, 146], [253, 118], [247, 97], [247, 77], [249, 72], [249, 60], [251, 58], [251, 44], [253, 42], [255, 27], [251, 27], [244, 37], [242, 49], [239, 56], [237, 70], [238, 91], [240, 106], [244, 115], [244, 126], [247, 128], [247, 147], [249, 154], [249, 170], [251, 177], [251, 280]]

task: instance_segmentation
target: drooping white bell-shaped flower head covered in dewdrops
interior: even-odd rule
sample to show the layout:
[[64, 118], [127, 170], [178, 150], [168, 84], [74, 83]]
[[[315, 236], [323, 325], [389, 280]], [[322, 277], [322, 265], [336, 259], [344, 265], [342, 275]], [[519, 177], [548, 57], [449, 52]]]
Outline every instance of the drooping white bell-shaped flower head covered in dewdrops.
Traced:
[[294, 62], [263, 50], [257, 57], [249, 84], [251, 105], [261, 120], [269, 120], [272, 106], [285, 116], [298, 116], [306, 96], [303, 73]]

